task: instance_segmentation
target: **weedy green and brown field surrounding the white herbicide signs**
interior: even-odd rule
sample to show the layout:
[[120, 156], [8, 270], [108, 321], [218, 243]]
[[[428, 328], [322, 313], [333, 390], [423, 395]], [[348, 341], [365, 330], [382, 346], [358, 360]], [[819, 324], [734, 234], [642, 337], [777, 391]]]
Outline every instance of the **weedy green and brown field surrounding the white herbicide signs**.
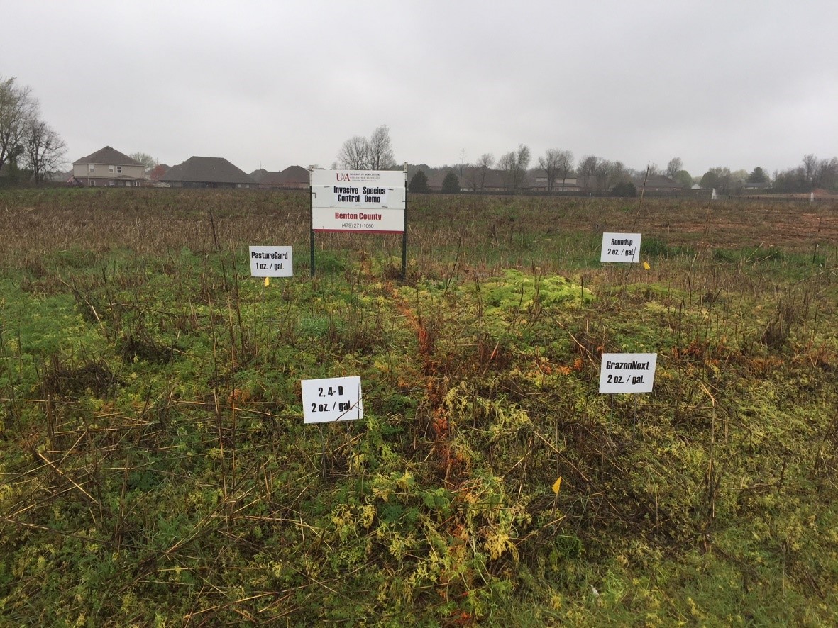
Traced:
[[838, 624], [838, 202], [409, 212], [312, 279], [304, 193], [0, 193], [0, 625]]

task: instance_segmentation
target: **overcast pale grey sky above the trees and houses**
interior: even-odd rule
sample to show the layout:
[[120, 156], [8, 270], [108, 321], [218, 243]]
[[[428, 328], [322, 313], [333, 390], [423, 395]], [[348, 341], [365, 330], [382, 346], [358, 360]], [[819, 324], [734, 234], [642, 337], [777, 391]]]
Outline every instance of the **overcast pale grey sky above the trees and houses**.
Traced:
[[68, 162], [328, 167], [390, 127], [398, 162], [525, 143], [701, 175], [838, 155], [838, 2], [0, 0], [0, 77]]

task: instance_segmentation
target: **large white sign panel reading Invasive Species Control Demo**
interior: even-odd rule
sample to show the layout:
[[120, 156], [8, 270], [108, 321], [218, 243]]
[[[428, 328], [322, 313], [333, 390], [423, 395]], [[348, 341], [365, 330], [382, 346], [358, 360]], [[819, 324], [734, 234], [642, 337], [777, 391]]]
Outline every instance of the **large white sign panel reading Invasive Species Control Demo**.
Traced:
[[312, 170], [312, 229], [401, 234], [405, 172]]

